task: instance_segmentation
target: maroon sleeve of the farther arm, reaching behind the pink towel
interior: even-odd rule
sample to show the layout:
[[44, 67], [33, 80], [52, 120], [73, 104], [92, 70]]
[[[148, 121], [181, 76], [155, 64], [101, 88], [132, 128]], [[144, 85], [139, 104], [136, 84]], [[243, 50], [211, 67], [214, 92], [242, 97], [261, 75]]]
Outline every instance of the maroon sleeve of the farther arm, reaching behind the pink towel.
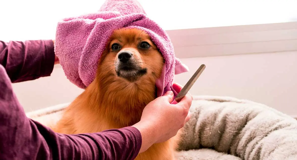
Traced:
[[49, 76], [54, 61], [52, 40], [0, 41], [0, 64], [12, 83]]

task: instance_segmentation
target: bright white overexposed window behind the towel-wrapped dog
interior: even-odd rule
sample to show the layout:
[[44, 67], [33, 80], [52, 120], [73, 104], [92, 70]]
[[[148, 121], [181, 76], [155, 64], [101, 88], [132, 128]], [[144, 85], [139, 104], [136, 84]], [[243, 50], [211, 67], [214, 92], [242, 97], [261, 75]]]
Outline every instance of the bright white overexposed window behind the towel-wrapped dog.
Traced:
[[[56, 23], [96, 12], [104, 0], [1, 2], [1, 40], [54, 39]], [[165, 30], [297, 21], [296, 0], [139, 0]]]

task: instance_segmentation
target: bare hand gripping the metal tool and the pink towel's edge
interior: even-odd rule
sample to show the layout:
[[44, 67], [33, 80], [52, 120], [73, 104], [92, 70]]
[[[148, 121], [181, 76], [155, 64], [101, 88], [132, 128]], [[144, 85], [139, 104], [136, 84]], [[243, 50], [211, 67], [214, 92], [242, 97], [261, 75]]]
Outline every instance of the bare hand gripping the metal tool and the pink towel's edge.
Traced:
[[[173, 84], [173, 87], [177, 92], [182, 88], [178, 84]], [[168, 91], [144, 108], [140, 121], [133, 125], [142, 135], [140, 153], [154, 143], [164, 142], [177, 134], [191, 117], [189, 108], [192, 99], [192, 96], [187, 94], [177, 104], [170, 104], [173, 101], [173, 92]]]

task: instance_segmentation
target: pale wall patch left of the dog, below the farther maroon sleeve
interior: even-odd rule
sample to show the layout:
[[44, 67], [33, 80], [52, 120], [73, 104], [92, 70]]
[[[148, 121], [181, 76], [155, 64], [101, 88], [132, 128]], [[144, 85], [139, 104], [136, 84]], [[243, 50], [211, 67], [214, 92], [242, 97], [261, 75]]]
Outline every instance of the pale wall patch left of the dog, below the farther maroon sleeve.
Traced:
[[49, 77], [13, 83], [13, 89], [25, 112], [71, 102], [83, 90], [66, 78], [60, 65], [56, 65]]

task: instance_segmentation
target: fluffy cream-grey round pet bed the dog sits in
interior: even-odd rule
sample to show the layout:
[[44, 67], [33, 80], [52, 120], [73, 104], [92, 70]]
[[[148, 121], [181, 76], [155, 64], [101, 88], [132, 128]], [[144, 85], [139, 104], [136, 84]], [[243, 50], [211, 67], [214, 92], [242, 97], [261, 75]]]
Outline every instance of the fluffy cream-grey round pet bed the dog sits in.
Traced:
[[[67, 104], [27, 113], [54, 125]], [[297, 121], [263, 104], [195, 96], [178, 160], [297, 160]]]

